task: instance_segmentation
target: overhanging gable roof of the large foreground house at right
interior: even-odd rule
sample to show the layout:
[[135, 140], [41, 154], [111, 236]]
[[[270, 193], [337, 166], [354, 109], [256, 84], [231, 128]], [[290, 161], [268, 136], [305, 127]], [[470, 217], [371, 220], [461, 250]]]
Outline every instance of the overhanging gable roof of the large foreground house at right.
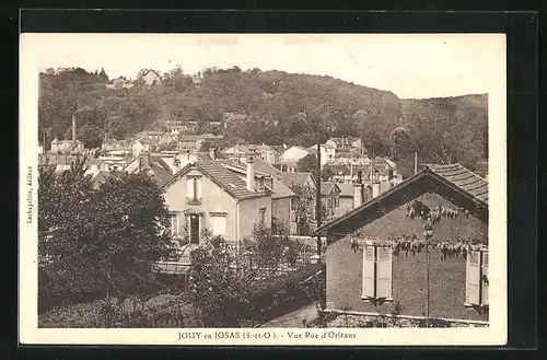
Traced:
[[387, 198], [397, 196], [397, 193], [403, 194], [405, 189], [426, 177], [433, 179], [437, 184], [444, 186], [444, 188], [450, 188], [451, 191], [462, 195], [463, 198], [475, 204], [479, 209], [488, 211], [488, 183], [485, 179], [458, 163], [453, 165], [426, 165], [419, 173], [395, 185], [393, 188], [316, 229], [312, 235], [322, 234], [328, 229], [348, 221], [350, 218], [358, 217], [361, 212], [373, 209]]

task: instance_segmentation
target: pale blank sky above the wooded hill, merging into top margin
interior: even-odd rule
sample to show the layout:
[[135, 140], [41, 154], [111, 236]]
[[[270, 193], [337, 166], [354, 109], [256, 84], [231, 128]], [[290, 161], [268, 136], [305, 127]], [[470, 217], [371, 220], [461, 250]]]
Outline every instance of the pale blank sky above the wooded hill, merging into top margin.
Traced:
[[329, 76], [401, 98], [490, 93], [505, 73], [501, 34], [23, 34], [21, 57], [40, 70], [208, 67]]

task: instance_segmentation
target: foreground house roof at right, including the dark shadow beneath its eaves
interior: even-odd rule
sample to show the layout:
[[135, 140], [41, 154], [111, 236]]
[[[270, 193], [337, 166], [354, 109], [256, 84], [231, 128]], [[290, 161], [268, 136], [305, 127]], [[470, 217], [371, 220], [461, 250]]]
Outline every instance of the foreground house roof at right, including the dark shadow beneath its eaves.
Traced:
[[469, 205], [478, 217], [488, 221], [488, 182], [458, 163], [452, 165], [426, 165], [420, 172], [395, 185], [387, 191], [380, 194], [360, 207], [316, 229], [312, 235], [323, 234], [327, 230], [338, 227], [353, 217], [360, 217], [365, 212], [372, 211], [375, 216], [379, 216], [379, 207], [382, 208], [382, 202], [388, 201], [393, 197], [399, 196], [399, 202], [408, 201], [409, 196], [419, 194], [418, 190], [411, 191], [411, 188], [423, 179], [428, 181], [427, 186], [430, 188], [439, 191], [449, 189], [451, 196], [455, 198], [457, 195], [457, 199], [455, 200]]

